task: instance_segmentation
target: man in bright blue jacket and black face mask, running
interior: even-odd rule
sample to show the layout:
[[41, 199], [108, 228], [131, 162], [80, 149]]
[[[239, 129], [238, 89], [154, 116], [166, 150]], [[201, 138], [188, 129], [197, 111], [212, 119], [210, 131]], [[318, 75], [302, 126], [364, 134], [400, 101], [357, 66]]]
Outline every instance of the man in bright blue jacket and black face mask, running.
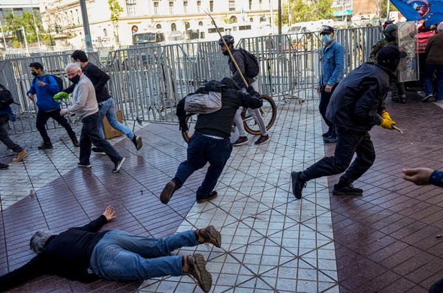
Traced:
[[43, 143], [38, 147], [39, 149], [52, 149], [53, 144], [51, 138], [49, 138], [48, 132], [46, 131], [46, 122], [49, 118], [57, 121], [60, 125], [66, 129], [66, 132], [71, 138], [74, 147], [79, 147], [77, 137], [75, 132], [72, 130], [71, 125], [65, 117], [60, 116], [60, 104], [55, 102], [53, 96], [60, 90], [58, 88], [55, 78], [48, 75], [46, 71], [43, 70], [43, 65], [39, 62], [33, 62], [29, 64], [30, 73], [34, 76], [33, 82], [30, 84], [30, 89], [26, 93], [30, 100], [34, 101], [34, 95], [37, 95], [37, 120], [35, 121], [35, 126], [42, 135]]

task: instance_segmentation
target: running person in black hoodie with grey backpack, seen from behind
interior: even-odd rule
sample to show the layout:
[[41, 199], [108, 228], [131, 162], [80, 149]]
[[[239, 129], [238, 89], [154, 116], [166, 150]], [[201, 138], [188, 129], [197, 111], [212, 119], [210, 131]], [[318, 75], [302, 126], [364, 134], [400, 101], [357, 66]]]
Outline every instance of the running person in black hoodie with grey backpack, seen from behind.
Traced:
[[[215, 83], [217, 82], [208, 82], [205, 88], [213, 87]], [[188, 142], [188, 158], [181, 162], [175, 177], [161, 191], [160, 200], [165, 205], [174, 191], [179, 189], [194, 171], [203, 168], [207, 162], [210, 166], [201, 186], [197, 189], [197, 203], [207, 202], [217, 197], [217, 191], [213, 189], [233, 150], [230, 132], [235, 112], [239, 106], [260, 108], [263, 104], [260, 94], [254, 90], [253, 86], [248, 87], [248, 93], [243, 93], [239, 90], [237, 83], [229, 77], [221, 79], [221, 84], [221, 109], [213, 113], [198, 115], [195, 133]], [[180, 127], [187, 129], [185, 99], [186, 97], [177, 104], [177, 116]]]

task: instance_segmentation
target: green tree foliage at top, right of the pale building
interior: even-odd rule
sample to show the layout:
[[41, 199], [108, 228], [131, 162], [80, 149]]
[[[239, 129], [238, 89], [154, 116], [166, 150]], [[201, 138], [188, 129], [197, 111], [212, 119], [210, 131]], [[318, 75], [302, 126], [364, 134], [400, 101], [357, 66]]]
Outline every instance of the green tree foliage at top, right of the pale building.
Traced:
[[289, 19], [288, 4], [284, 4], [282, 11], [282, 23], [296, 23], [301, 21], [314, 21], [318, 19], [330, 19], [332, 15], [332, 0], [289, 0], [291, 19]]

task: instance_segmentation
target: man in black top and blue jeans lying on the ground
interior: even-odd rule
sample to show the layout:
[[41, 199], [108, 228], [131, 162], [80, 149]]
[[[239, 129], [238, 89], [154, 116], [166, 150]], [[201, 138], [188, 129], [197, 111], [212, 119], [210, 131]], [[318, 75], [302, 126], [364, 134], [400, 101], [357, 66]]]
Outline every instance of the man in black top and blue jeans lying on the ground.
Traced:
[[221, 246], [221, 234], [213, 226], [189, 230], [156, 239], [134, 236], [125, 231], [98, 231], [116, 218], [114, 207], [83, 227], [73, 227], [53, 235], [37, 231], [30, 238], [30, 248], [37, 253], [26, 265], [0, 276], [0, 292], [42, 274], [91, 283], [98, 278], [111, 281], [137, 281], [159, 276], [190, 274], [204, 292], [212, 286], [201, 254], [170, 256], [183, 246], [211, 243]]

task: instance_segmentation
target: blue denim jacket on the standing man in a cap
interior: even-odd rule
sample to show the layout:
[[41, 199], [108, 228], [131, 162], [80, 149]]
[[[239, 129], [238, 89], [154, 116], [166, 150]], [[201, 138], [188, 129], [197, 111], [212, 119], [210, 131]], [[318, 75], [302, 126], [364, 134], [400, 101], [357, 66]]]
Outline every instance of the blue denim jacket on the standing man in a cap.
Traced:
[[321, 50], [321, 70], [318, 86], [334, 86], [343, 79], [345, 49], [335, 40]]

